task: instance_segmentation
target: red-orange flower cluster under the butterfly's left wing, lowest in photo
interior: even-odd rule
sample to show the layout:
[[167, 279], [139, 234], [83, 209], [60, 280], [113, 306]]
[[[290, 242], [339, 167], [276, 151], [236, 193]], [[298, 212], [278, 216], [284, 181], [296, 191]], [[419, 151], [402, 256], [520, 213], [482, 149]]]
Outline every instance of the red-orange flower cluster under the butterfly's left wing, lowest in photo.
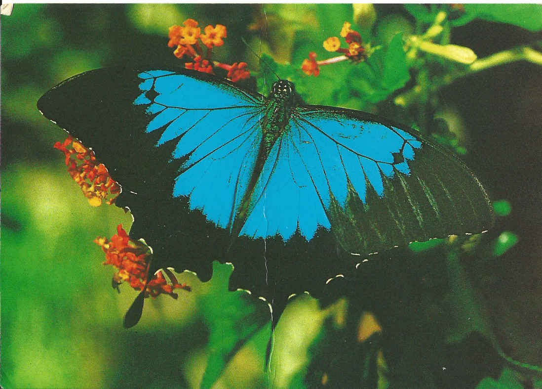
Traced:
[[[148, 246], [140, 241], [131, 240], [121, 224], [117, 226], [117, 234], [113, 235], [111, 240], [99, 237], [94, 243], [100, 245], [105, 252], [104, 265], [113, 265], [119, 269], [113, 276], [113, 288], [118, 289], [119, 284], [129, 282], [135, 290], [143, 290], [151, 256]], [[164, 273], [170, 279], [170, 283], [167, 282]], [[175, 289], [191, 290], [190, 286], [179, 284], [170, 270], [162, 269], [147, 283], [145, 297], [166, 294], [177, 298], [178, 295], [173, 292]]]

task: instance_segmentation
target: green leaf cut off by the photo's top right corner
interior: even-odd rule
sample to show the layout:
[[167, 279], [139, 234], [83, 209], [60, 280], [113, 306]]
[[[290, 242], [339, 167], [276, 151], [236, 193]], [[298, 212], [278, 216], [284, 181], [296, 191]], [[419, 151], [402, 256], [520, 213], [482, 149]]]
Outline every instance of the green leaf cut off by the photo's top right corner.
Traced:
[[492, 22], [518, 25], [530, 31], [542, 30], [542, 5], [539, 4], [464, 4], [467, 14]]

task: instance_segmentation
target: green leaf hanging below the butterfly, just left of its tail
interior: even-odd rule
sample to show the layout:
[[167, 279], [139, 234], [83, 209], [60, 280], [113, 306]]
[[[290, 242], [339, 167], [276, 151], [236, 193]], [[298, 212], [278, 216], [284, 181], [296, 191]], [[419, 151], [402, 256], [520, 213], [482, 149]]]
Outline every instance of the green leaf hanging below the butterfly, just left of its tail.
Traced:
[[202, 388], [214, 385], [238, 350], [269, 323], [267, 304], [246, 291], [228, 291], [231, 272], [233, 265], [214, 262], [210, 280], [214, 284], [211, 286], [213, 291], [202, 297], [200, 302], [210, 332], [210, 355], [201, 382]]

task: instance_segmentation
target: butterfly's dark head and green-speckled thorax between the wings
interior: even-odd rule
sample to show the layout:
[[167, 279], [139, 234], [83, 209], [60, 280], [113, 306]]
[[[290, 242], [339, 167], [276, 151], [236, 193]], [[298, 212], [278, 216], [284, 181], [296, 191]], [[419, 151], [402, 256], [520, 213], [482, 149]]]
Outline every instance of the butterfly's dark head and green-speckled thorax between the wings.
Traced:
[[[301, 99], [295, 92], [293, 82], [279, 80], [273, 83], [267, 98], [266, 116], [262, 120], [264, 151], [266, 154], [273, 148], [280, 135], [288, 131], [289, 119]], [[267, 156], [267, 155], [266, 155]]]

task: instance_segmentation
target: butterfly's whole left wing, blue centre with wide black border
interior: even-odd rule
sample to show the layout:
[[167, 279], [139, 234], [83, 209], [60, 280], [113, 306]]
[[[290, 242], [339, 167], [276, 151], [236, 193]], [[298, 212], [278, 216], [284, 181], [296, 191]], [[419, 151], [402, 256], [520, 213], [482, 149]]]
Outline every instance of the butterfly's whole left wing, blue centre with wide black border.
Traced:
[[[108, 68], [70, 78], [38, 109], [91, 147], [130, 208], [153, 270], [211, 277], [261, 141], [263, 97], [188, 69]], [[218, 227], [218, 228], [217, 228]], [[239, 287], [242, 287], [239, 286]]]

